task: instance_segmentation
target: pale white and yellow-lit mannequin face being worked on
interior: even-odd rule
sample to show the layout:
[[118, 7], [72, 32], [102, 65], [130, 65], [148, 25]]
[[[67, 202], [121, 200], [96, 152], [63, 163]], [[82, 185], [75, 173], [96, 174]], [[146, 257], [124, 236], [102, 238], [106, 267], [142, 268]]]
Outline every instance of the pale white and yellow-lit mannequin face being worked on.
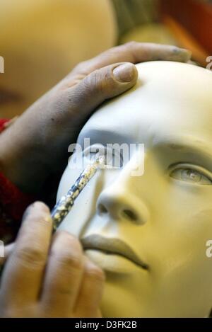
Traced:
[[[130, 162], [99, 170], [61, 228], [80, 239], [91, 236], [86, 255], [106, 273], [103, 316], [208, 316], [212, 73], [175, 62], [147, 62], [137, 69], [138, 84], [103, 105], [78, 142], [90, 137], [91, 144], [143, 143], [144, 174], [131, 176]], [[58, 199], [81, 171], [66, 168]], [[117, 239], [148, 268], [101, 250], [107, 241], [113, 250]]]

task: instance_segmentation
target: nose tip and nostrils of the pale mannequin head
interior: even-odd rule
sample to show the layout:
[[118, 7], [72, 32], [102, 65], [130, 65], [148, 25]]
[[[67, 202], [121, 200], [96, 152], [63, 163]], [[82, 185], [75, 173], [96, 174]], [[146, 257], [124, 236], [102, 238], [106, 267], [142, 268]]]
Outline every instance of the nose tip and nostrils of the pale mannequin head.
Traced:
[[98, 214], [115, 221], [126, 220], [146, 224], [149, 213], [146, 205], [134, 194], [111, 185], [102, 191], [97, 202]]

